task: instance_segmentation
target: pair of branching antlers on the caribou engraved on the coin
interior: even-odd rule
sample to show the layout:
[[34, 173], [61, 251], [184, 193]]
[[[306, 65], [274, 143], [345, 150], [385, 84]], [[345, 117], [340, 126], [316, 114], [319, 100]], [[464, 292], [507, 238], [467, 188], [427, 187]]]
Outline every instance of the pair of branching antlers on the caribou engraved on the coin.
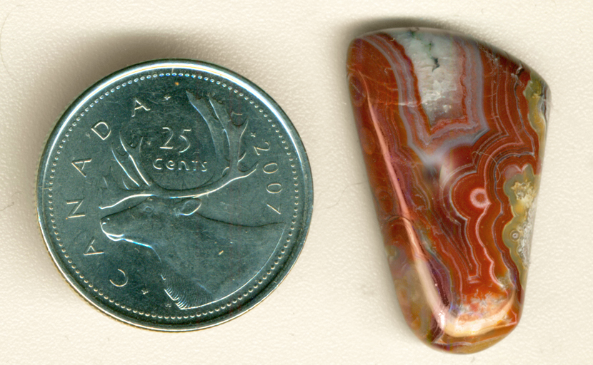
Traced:
[[[106, 205], [101, 206], [101, 209], [108, 209], [119, 205], [121, 202], [126, 200], [132, 199], [134, 197], [149, 197], [149, 196], [159, 196], [159, 197], [168, 197], [171, 199], [182, 199], [182, 198], [198, 198], [204, 195], [208, 195], [211, 192], [215, 192], [220, 190], [222, 187], [229, 185], [235, 180], [246, 178], [247, 176], [254, 173], [257, 164], [251, 167], [249, 170], [241, 171], [239, 170], [239, 163], [243, 160], [245, 153], [241, 153], [241, 138], [243, 138], [243, 133], [246, 130], [247, 123], [243, 123], [242, 125], [235, 125], [229, 113], [226, 111], [224, 106], [217, 101], [209, 98], [209, 105], [211, 106], [212, 110], [214, 110], [214, 114], [210, 112], [208, 108], [208, 104], [202, 99], [195, 98], [191, 93], [187, 92], [187, 97], [189, 102], [191, 103], [198, 113], [201, 115], [202, 118], [206, 121], [208, 128], [210, 130], [212, 140], [214, 142], [214, 149], [216, 151], [216, 156], [221, 156], [224, 151], [224, 144], [225, 140], [226, 143], [229, 145], [229, 165], [223, 170], [220, 178], [213, 183], [209, 183], [207, 185], [201, 185], [199, 187], [194, 187], [191, 189], [184, 189], [184, 190], [174, 190], [174, 189], [165, 189], [164, 187], [159, 186], [151, 180], [149, 174], [147, 174], [144, 169], [142, 168], [142, 164], [140, 161], [140, 153], [141, 153], [141, 145], [142, 139], [136, 145], [136, 147], [131, 147], [124, 138], [119, 136], [119, 142], [121, 143], [121, 147], [124, 148], [125, 155], [122, 158], [121, 156], [118, 157], [117, 153], [112, 148], [112, 153], [116, 162], [118, 163], [119, 167], [124, 170], [126, 176], [136, 185], [134, 190], [127, 190], [129, 192], [134, 192], [131, 195], [128, 195], [124, 198], [116, 200], [115, 202], [110, 202]], [[127, 185], [126, 185], [127, 187]]]

